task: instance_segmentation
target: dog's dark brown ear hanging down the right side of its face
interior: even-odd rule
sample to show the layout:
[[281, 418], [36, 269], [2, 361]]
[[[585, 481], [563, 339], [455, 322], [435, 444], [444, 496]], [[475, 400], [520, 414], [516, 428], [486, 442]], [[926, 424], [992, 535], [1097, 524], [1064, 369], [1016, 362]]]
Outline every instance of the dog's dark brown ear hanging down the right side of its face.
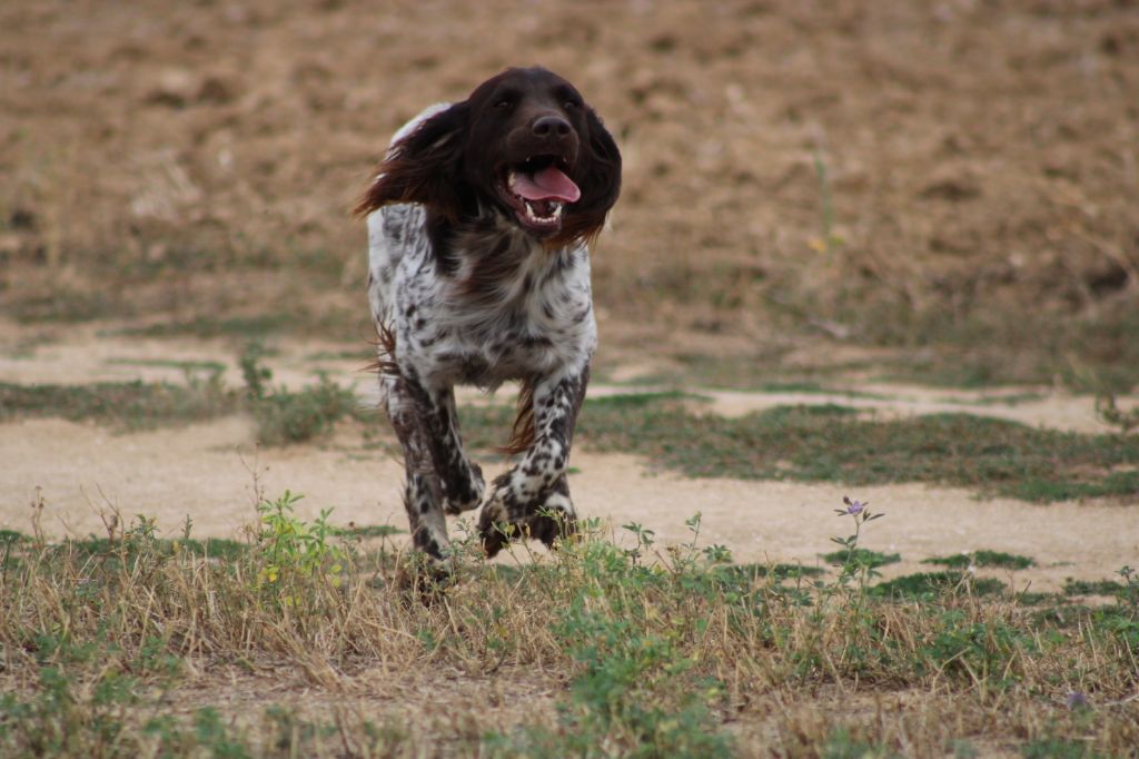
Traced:
[[605, 217], [621, 195], [621, 152], [613, 136], [592, 108], [585, 109], [589, 140], [579, 157], [575, 179], [581, 188], [581, 199], [567, 209], [562, 231], [555, 238], [559, 245], [573, 240], [590, 240], [605, 226]]

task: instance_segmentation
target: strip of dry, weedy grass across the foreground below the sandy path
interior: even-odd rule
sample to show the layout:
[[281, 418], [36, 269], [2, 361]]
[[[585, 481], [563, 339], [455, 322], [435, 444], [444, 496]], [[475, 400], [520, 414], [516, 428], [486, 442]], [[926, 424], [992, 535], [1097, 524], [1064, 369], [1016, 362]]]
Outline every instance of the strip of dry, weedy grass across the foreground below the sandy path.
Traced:
[[98, 544], [9, 536], [0, 749], [1067, 757], [1139, 744], [1133, 578], [1097, 609], [983, 597], [967, 573], [884, 599], [857, 561], [779, 581], [695, 536], [623, 550], [587, 533], [515, 566], [460, 542], [440, 587], [415, 557], [337, 540], [288, 504], [263, 503], [226, 557], [145, 521], [124, 533], [112, 520]]

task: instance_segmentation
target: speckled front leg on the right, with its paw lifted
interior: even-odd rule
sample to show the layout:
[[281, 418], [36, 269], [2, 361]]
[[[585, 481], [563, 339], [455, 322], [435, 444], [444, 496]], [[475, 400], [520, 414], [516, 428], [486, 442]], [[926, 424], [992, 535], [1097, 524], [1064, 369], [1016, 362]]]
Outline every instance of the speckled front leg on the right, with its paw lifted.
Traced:
[[511, 538], [541, 538], [552, 545], [573, 531], [575, 513], [566, 470], [577, 411], [585, 398], [589, 367], [580, 374], [534, 385], [534, 442], [509, 472], [494, 480], [478, 517], [487, 556]]

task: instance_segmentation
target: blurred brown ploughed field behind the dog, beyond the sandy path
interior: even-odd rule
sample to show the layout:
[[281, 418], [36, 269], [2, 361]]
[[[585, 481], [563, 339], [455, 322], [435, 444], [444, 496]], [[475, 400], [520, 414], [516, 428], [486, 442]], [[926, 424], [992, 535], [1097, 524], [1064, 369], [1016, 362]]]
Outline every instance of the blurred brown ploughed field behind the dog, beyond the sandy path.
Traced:
[[603, 374], [1136, 382], [1131, 2], [15, 0], [0, 30], [0, 316], [25, 329], [366, 354], [347, 209], [388, 137], [538, 64], [625, 160]]

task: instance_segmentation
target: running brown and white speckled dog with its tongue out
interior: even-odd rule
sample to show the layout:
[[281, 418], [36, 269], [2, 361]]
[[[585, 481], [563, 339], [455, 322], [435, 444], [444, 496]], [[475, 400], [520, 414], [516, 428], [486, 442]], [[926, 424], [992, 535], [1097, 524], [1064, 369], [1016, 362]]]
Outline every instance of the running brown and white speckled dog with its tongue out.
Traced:
[[[482, 506], [487, 556], [574, 531], [566, 471], [597, 346], [589, 244], [621, 191], [621, 153], [568, 81], [509, 68], [400, 129], [355, 206], [382, 406], [407, 471], [415, 548], [449, 549], [444, 514]], [[521, 383], [514, 466], [484, 500], [454, 385]]]

